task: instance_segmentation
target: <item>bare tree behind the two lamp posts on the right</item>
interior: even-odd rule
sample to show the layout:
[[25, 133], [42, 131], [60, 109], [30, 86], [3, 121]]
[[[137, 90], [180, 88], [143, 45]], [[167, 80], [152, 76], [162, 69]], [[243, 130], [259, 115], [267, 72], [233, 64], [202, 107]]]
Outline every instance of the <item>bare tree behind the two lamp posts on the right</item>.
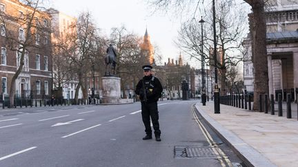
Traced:
[[[217, 3], [217, 45], [219, 46], [219, 59], [217, 61], [217, 68], [219, 69], [220, 83], [221, 83], [221, 94], [226, 94], [226, 72], [230, 66], [235, 66], [241, 62], [241, 54], [239, 52], [241, 46], [241, 38], [246, 34], [245, 31], [245, 19], [246, 14], [243, 11], [244, 8], [237, 5], [236, 3]], [[212, 30], [212, 12], [206, 12], [205, 17], [206, 25], [204, 26], [203, 32], [203, 47], [209, 56], [203, 53], [204, 60], [207, 65], [214, 66], [214, 60], [212, 56], [213, 50], [213, 30]], [[233, 17], [237, 15], [237, 18]], [[201, 61], [201, 23], [197, 19], [191, 19], [183, 23], [181, 30], [179, 31], [179, 38], [177, 45], [191, 58], [195, 58]]]

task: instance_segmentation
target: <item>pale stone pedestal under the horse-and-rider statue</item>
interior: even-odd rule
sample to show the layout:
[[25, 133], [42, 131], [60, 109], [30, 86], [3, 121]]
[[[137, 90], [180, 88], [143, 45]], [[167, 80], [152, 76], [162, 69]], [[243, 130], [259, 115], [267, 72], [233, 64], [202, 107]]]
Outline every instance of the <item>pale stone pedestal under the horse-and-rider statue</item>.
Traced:
[[117, 104], [120, 103], [121, 89], [120, 80], [121, 78], [115, 76], [104, 76], [102, 80], [102, 103], [103, 104]]

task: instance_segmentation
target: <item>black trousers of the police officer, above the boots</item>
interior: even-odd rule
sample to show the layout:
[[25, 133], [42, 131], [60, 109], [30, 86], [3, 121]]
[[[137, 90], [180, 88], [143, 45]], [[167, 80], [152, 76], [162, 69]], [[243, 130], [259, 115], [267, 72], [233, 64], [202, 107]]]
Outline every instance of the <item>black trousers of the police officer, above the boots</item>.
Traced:
[[152, 130], [150, 126], [150, 117], [153, 124], [153, 129], [155, 130], [155, 136], [160, 135], [159, 130], [159, 114], [157, 110], [157, 102], [151, 102], [149, 104], [141, 103], [141, 115], [143, 119], [143, 124], [145, 125], [145, 132], [147, 135], [152, 135]]

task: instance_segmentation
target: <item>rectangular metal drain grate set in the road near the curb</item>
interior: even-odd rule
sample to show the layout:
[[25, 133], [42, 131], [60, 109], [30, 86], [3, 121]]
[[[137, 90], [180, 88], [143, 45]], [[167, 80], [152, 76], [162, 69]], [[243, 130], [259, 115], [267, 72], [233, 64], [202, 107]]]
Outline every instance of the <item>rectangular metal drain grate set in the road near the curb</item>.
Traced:
[[210, 146], [175, 146], [175, 158], [218, 158]]

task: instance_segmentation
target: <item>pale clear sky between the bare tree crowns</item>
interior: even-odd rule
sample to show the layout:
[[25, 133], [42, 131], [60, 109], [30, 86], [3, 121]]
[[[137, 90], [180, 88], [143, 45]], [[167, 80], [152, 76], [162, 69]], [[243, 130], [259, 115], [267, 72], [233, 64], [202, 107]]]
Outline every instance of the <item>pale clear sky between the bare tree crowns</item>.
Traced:
[[[50, 0], [50, 7], [70, 16], [89, 11], [107, 36], [112, 27], [121, 25], [125, 25], [129, 32], [143, 36], [147, 27], [152, 45], [159, 47], [162, 63], [168, 58], [179, 58], [180, 50], [173, 41], [177, 38], [180, 21], [160, 12], [152, 14], [146, 0]], [[183, 56], [183, 59], [188, 58]]]

